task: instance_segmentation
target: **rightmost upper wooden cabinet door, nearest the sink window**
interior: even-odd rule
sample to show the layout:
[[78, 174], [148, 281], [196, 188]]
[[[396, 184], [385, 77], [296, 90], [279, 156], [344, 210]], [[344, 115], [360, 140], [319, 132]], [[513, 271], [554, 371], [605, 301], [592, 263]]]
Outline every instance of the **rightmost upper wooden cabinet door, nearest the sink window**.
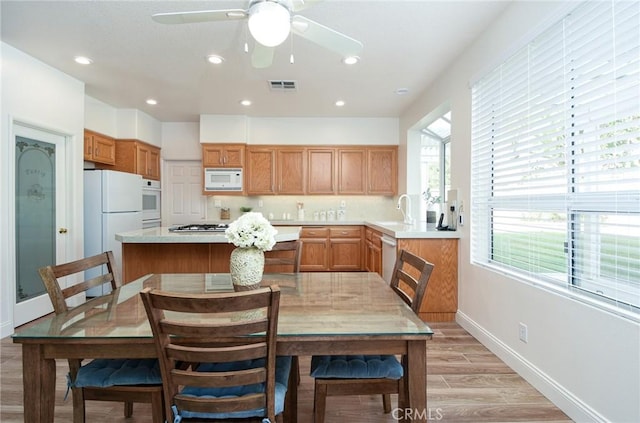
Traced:
[[367, 173], [369, 194], [395, 195], [398, 191], [397, 148], [369, 148]]

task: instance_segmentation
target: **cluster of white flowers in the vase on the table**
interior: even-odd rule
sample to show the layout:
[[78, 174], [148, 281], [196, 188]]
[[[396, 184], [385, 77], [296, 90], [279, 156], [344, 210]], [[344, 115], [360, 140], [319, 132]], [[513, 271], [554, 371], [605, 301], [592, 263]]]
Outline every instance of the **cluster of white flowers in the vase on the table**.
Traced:
[[231, 222], [224, 233], [236, 247], [269, 251], [276, 243], [278, 231], [262, 213], [248, 212]]

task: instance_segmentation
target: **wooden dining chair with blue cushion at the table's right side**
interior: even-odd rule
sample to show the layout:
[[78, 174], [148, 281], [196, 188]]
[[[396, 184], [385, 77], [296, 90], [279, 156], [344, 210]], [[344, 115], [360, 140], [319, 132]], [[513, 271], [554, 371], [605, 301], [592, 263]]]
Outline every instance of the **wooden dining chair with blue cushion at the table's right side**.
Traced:
[[[433, 264], [400, 250], [391, 276], [391, 288], [417, 314], [427, 291]], [[398, 406], [408, 398], [404, 360], [395, 355], [322, 355], [311, 358], [315, 379], [314, 423], [324, 422], [328, 396], [382, 394], [385, 413], [391, 412], [390, 394], [398, 394]]]

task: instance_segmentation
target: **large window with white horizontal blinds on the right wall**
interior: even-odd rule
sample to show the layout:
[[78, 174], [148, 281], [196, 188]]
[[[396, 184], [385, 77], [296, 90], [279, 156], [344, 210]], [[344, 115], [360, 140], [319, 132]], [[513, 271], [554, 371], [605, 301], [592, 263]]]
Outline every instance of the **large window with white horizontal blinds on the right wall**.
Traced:
[[581, 3], [473, 84], [474, 263], [639, 312], [639, 22]]

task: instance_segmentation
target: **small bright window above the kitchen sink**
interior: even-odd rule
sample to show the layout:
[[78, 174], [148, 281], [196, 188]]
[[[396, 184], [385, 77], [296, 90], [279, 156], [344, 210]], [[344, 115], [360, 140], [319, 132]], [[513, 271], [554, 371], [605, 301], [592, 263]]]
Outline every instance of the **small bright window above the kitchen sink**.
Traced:
[[438, 207], [446, 201], [445, 195], [451, 189], [450, 147], [451, 112], [448, 111], [422, 129], [420, 192], [425, 201], [420, 202], [421, 216], [426, 216], [428, 207]]

